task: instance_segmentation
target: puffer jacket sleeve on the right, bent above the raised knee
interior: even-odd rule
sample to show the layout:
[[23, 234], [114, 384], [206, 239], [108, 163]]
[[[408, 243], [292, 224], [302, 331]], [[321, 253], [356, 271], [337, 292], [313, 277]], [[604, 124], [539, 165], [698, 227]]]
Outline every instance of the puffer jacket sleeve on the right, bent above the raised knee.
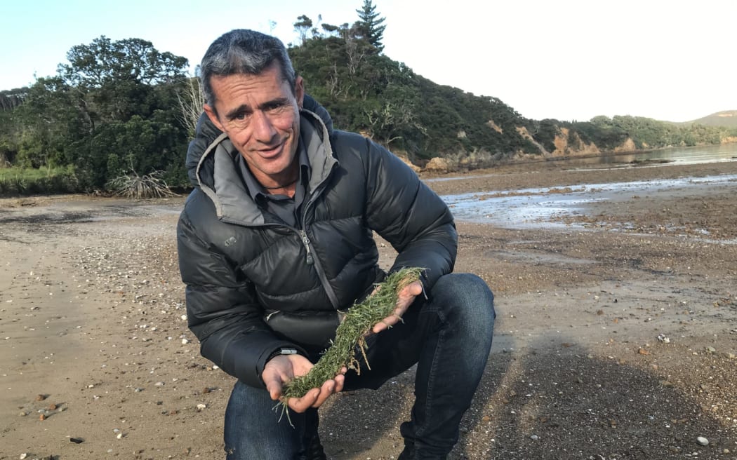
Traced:
[[453, 214], [402, 160], [366, 142], [368, 224], [399, 252], [389, 271], [425, 268], [425, 284], [432, 287], [453, 272], [458, 249]]

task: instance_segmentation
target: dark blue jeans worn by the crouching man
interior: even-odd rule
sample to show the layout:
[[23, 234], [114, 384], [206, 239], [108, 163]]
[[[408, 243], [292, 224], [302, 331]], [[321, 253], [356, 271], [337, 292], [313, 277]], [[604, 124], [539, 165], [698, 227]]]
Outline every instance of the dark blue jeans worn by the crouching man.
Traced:
[[[444, 459], [458, 442], [458, 426], [476, 391], [496, 317], [494, 296], [481, 278], [469, 274], [441, 277], [411, 305], [404, 324], [368, 336], [369, 371], [346, 374], [345, 390], [377, 389], [417, 364], [411, 420], [402, 423], [402, 458]], [[316, 410], [286, 415], [265, 389], [237, 382], [226, 409], [228, 460], [300, 459], [318, 429]], [[279, 408], [281, 411], [281, 408]]]

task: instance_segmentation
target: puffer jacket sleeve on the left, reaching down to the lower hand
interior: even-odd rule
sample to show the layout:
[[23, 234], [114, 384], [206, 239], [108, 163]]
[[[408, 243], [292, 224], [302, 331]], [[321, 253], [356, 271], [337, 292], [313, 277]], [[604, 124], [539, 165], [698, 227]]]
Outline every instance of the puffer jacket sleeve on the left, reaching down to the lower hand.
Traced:
[[[202, 197], [198, 201], [203, 205]], [[240, 381], [263, 388], [261, 373], [269, 356], [282, 347], [300, 347], [265, 325], [248, 280], [198, 236], [186, 207], [177, 225], [177, 249], [187, 324], [200, 340], [200, 353]]]

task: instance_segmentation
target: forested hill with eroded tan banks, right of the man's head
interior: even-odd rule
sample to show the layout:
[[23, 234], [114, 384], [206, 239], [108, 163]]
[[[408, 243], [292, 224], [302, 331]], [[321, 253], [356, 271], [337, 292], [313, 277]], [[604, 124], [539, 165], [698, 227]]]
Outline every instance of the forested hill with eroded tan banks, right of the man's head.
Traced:
[[673, 124], [635, 116], [532, 120], [500, 99], [436, 85], [365, 40], [339, 31], [290, 48], [307, 92], [355, 130], [415, 163], [443, 157], [467, 166], [737, 140], [737, 128]]

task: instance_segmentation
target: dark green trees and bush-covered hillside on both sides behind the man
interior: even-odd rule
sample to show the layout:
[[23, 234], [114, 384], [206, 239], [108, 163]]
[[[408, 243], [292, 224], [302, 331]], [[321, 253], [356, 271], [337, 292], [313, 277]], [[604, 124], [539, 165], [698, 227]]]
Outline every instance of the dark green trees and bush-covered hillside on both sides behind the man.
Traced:
[[[335, 127], [361, 132], [419, 166], [443, 158], [472, 169], [737, 140], [736, 126], [706, 119], [525, 118], [500, 99], [436, 85], [391, 60], [382, 54], [384, 18], [369, 0], [357, 12], [350, 26], [319, 29], [299, 16], [300, 40], [289, 49], [295, 68]], [[203, 102], [197, 79], [186, 75], [187, 60], [147, 40], [105, 36], [66, 57], [57, 75], [0, 91], [0, 168], [9, 171], [0, 175], [0, 195], [113, 191], [121, 177], [189, 187], [184, 158]]]

